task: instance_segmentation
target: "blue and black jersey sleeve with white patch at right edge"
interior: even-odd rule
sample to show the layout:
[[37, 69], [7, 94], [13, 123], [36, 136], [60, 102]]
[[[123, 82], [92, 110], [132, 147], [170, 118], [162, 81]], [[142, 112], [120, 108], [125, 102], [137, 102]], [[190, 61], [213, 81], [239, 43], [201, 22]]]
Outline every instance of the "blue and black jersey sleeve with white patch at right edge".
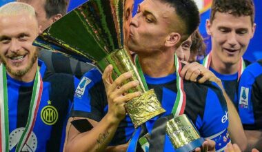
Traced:
[[239, 81], [238, 108], [244, 129], [262, 127], [262, 66], [258, 62], [245, 69]]

